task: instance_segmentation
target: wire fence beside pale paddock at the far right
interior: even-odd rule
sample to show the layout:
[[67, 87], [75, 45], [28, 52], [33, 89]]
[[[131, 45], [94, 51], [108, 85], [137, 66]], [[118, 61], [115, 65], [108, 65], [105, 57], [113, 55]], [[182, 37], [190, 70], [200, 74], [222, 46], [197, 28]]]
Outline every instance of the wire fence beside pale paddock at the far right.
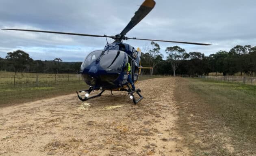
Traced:
[[200, 76], [204, 79], [212, 79], [216, 81], [226, 81], [232, 83], [243, 83], [249, 85], [256, 85], [256, 77], [247, 76]]

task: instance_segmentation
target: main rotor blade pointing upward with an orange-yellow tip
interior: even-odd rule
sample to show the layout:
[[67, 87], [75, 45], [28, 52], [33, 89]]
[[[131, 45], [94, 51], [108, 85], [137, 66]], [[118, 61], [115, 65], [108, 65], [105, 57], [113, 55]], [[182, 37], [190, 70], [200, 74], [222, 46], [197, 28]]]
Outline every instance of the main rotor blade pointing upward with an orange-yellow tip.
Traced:
[[154, 8], [155, 4], [156, 2], [154, 0], [145, 0], [120, 34], [125, 35], [134, 26], [136, 26], [146, 15], [148, 15], [148, 13]]

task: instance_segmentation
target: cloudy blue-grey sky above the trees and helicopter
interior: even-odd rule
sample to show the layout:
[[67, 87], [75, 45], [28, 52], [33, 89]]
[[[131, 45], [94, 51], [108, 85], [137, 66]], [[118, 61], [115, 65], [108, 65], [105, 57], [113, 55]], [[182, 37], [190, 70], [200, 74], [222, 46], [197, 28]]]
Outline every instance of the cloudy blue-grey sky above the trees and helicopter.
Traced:
[[[256, 44], [255, 0], [155, 0], [154, 9], [128, 37], [210, 43], [178, 45], [188, 53], [206, 56], [236, 45]], [[143, 0], [0, 0], [0, 28], [34, 29], [112, 36], [120, 33]], [[108, 38], [108, 42], [113, 41]], [[127, 40], [133, 47], [150, 41]], [[21, 49], [34, 60], [83, 61], [91, 51], [103, 49], [106, 38], [0, 30], [0, 57]]]

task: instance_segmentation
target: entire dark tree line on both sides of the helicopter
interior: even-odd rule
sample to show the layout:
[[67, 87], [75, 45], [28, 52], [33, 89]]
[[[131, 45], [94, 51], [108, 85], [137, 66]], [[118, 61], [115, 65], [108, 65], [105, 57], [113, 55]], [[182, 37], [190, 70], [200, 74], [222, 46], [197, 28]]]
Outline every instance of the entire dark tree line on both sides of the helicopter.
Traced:
[[[179, 46], [167, 47], [167, 59], [163, 60], [160, 46], [151, 42], [143, 48], [141, 65], [153, 67], [154, 75], [209, 75], [222, 73], [234, 75], [243, 73], [256, 76], [256, 46], [236, 45], [230, 51], [218, 51], [209, 56], [194, 51], [187, 52]], [[29, 54], [17, 50], [7, 53], [6, 58], [0, 58], [0, 71], [30, 72], [30, 73], [75, 73], [80, 71], [82, 62], [62, 62], [61, 58], [54, 60], [33, 60]], [[150, 74], [150, 71], [143, 71]]]

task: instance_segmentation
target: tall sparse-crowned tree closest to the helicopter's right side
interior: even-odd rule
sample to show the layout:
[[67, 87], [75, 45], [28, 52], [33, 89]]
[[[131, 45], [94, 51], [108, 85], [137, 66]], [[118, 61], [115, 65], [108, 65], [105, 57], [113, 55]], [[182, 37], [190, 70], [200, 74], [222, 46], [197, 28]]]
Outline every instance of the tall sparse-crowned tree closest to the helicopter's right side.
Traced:
[[153, 74], [156, 65], [163, 60], [163, 55], [160, 53], [160, 46], [152, 41], [150, 45], [146, 45], [143, 49], [150, 56], [147, 61], [149, 62], [150, 67], [153, 68], [151, 71], [151, 74]]

